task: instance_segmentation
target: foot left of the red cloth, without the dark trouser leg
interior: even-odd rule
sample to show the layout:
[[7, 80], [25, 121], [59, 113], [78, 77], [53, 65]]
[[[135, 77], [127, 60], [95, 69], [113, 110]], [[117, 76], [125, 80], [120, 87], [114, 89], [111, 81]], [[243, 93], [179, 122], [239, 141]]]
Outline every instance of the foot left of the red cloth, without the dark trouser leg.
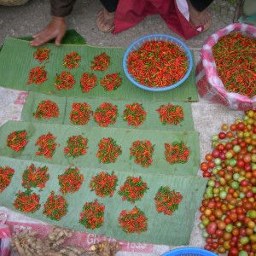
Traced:
[[96, 20], [97, 27], [102, 32], [111, 32], [114, 28], [114, 15], [115, 13], [109, 13], [106, 9], [102, 9]]

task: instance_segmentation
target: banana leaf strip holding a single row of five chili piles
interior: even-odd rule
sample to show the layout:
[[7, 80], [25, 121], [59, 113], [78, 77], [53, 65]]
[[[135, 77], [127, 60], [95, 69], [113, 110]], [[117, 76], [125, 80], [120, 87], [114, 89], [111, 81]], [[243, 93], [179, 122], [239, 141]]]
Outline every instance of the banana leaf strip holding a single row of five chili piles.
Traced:
[[[55, 102], [59, 108], [59, 116], [51, 119], [36, 119], [33, 113], [36, 113], [38, 104], [43, 101]], [[21, 119], [28, 122], [38, 122], [41, 124], [66, 124], [73, 125], [70, 121], [70, 113], [72, 111], [73, 103], [86, 102], [90, 106], [90, 111], [96, 112], [96, 109], [104, 102], [111, 103], [118, 109], [118, 117], [116, 123], [109, 125], [111, 128], [134, 128], [135, 126], [128, 125], [126, 121], [123, 120], [123, 112], [127, 104], [132, 104], [133, 101], [118, 101], [118, 100], [102, 100], [102, 99], [91, 99], [91, 98], [80, 98], [80, 97], [64, 97], [64, 96], [45, 96], [42, 93], [30, 92], [26, 97], [26, 104], [22, 109]], [[170, 130], [170, 131], [193, 131], [194, 121], [191, 112], [190, 102], [143, 102], [143, 100], [137, 101], [137, 103], [142, 104], [145, 112], [146, 119], [142, 125], [137, 126], [137, 130]], [[160, 115], [157, 109], [160, 106], [171, 103], [173, 106], [178, 106], [183, 109], [183, 120], [177, 125], [163, 125], [160, 122]], [[95, 119], [93, 118], [93, 113], [91, 114], [89, 122], [84, 125], [84, 127], [99, 127]]]

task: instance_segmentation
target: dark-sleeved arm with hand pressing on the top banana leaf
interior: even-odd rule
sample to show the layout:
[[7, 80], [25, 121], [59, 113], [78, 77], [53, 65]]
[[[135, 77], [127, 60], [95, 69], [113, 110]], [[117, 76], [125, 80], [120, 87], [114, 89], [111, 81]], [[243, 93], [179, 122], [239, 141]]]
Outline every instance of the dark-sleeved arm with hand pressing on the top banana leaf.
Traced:
[[60, 45], [67, 31], [66, 16], [72, 12], [74, 3], [75, 0], [51, 0], [52, 18], [41, 32], [33, 36], [34, 39], [30, 44], [39, 46], [55, 38], [55, 44]]

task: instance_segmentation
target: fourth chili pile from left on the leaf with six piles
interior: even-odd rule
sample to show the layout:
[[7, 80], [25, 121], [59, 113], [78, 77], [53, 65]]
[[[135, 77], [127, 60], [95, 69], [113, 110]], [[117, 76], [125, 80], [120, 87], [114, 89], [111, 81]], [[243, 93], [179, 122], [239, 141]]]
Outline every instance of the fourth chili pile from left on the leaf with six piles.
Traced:
[[104, 137], [99, 143], [99, 150], [96, 157], [103, 164], [114, 163], [119, 154], [122, 154], [122, 149], [112, 137]]

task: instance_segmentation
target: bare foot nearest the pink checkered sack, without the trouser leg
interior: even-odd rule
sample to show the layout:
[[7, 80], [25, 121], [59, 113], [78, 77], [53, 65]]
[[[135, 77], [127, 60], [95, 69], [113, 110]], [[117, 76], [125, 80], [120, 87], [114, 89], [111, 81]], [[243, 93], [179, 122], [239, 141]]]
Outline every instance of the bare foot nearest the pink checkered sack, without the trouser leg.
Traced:
[[189, 0], [188, 5], [190, 23], [195, 27], [202, 26], [203, 31], [206, 31], [212, 24], [212, 15], [207, 10], [201, 12], [196, 10]]

